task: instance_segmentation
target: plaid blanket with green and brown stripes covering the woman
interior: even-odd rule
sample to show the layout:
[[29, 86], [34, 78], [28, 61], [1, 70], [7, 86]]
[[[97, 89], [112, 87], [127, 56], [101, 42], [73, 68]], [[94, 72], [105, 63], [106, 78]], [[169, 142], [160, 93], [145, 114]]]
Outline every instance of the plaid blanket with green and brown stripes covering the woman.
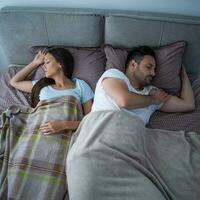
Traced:
[[81, 120], [72, 96], [41, 101], [36, 108], [12, 106], [1, 115], [0, 199], [68, 199], [66, 156], [72, 131], [43, 135], [42, 122]]

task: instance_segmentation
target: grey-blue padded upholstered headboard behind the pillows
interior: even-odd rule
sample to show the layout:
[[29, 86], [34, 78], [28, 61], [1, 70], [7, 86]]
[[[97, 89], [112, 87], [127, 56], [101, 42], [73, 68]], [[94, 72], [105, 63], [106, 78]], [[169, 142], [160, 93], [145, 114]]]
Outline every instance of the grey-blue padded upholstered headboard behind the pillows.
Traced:
[[34, 45], [161, 46], [187, 41], [187, 71], [200, 74], [200, 17], [91, 9], [5, 7], [0, 11], [0, 70], [27, 64]]

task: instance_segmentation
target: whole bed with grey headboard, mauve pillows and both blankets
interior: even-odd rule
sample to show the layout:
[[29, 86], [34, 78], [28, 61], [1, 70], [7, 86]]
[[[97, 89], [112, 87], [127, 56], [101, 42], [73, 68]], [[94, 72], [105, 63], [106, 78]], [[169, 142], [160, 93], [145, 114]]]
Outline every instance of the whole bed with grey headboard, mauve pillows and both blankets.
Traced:
[[[0, 198], [199, 199], [199, 35], [199, 17], [120, 10], [2, 8]], [[84, 79], [95, 90], [105, 70], [123, 71], [127, 52], [138, 45], [155, 49], [157, 75], [153, 84], [171, 94], [180, 94], [184, 63], [194, 91], [195, 111], [157, 111], [147, 127], [123, 111], [95, 112], [83, 118], [72, 137], [64, 133], [44, 137], [38, 134], [36, 122], [50, 118], [55, 113], [53, 105], [62, 113], [55, 117], [82, 119], [79, 103], [66, 97], [31, 108], [29, 95], [9, 85], [9, 79], [39, 49], [62, 46], [74, 56], [73, 76]], [[42, 76], [38, 69], [29, 79]], [[71, 102], [79, 112], [68, 116], [63, 107], [72, 109]], [[38, 113], [43, 113], [42, 119]]]

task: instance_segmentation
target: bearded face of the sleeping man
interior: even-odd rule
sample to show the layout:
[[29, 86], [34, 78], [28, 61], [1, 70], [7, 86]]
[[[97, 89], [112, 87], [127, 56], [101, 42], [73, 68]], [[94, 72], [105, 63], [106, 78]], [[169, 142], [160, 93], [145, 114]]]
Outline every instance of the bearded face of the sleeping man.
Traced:
[[156, 62], [152, 56], [144, 56], [134, 70], [135, 79], [143, 86], [149, 85], [155, 76]]

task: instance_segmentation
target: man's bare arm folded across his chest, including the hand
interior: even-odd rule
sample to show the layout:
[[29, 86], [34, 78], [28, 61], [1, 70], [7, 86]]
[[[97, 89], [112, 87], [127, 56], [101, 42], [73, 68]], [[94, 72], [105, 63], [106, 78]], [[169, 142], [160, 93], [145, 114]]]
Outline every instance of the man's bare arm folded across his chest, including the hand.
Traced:
[[130, 92], [126, 83], [118, 78], [105, 78], [102, 86], [116, 104], [121, 108], [135, 109], [151, 104], [160, 104], [168, 99], [168, 94], [162, 90], [155, 90], [151, 95], [139, 95]]

